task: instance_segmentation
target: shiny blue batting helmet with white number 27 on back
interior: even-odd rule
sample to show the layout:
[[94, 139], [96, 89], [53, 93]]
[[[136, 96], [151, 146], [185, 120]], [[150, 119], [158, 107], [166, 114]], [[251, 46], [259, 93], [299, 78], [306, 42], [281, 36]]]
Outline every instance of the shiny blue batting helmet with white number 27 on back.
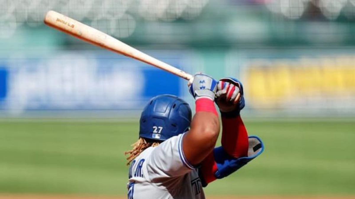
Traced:
[[189, 130], [190, 123], [188, 103], [174, 95], [158, 95], [142, 111], [139, 136], [164, 141]]

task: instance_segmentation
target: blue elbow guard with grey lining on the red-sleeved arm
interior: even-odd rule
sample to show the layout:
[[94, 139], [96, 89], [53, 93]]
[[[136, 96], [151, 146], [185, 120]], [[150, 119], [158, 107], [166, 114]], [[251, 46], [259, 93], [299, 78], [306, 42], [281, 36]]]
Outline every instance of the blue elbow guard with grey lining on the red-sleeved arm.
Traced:
[[264, 151], [264, 144], [257, 136], [249, 136], [248, 156], [234, 158], [228, 155], [222, 147], [213, 150], [214, 160], [217, 163], [218, 170], [215, 172], [217, 179], [229, 176], [233, 172], [246, 165], [252, 159], [256, 158]]

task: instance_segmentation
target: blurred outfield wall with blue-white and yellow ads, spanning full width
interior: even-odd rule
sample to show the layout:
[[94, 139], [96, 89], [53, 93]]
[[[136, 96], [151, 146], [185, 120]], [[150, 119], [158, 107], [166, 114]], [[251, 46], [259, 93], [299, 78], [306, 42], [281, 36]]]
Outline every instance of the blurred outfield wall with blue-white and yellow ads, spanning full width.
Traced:
[[[48, 54], [0, 59], [1, 113], [117, 110], [114, 116], [125, 116], [159, 94], [177, 95], [194, 104], [186, 80], [134, 59], [104, 50]], [[240, 79], [244, 113], [250, 116], [355, 114], [353, 51], [185, 49], [147, 54], [190, 74]]]

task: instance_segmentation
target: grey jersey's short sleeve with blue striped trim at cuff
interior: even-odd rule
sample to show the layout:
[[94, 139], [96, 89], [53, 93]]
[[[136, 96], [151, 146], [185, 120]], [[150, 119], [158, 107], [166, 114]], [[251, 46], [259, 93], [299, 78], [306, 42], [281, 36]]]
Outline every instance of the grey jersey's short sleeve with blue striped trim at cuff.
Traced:
[[195, 169], [185, 158], [180, 134], [155, 147], [147, 161], [149, 178], [177, 177]]

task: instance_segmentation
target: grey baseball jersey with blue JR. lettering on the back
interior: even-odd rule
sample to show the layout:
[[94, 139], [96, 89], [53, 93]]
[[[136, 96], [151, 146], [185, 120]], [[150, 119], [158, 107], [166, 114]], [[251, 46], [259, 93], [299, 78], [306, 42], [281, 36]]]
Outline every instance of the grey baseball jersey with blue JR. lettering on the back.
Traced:
[[131, 163], [128, 199], [204, 199], [198, 169], [182, 151], [182, 137], [174, 136], [144, 150]]

